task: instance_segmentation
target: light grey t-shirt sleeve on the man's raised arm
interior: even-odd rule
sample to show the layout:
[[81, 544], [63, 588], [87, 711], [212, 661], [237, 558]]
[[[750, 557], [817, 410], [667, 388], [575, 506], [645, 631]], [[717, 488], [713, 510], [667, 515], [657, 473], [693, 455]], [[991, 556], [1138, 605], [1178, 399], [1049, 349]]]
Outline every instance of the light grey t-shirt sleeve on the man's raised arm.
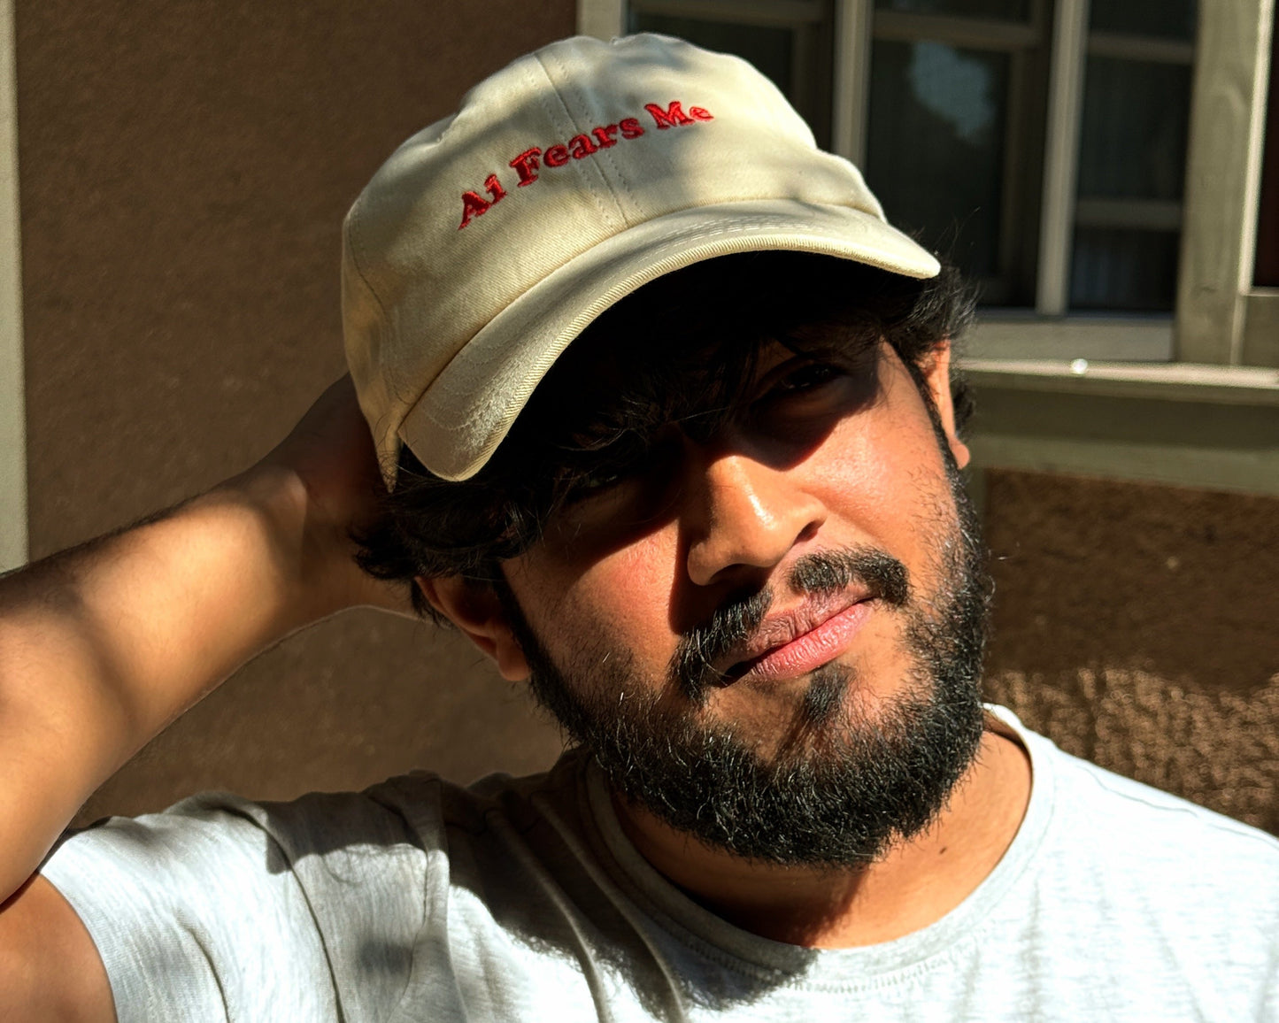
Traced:
[[398, 1003], [425, 863], [421, 835], [367, 795], [214, 793], [74, 832], [41, 872], [88, 928], [122, 1023], [325, 1020]]

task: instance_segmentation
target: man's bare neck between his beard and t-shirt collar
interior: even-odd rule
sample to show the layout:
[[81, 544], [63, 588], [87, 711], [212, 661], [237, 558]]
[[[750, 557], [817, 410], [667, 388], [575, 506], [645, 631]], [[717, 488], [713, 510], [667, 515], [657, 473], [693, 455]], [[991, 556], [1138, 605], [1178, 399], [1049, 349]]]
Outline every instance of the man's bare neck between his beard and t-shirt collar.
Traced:
[[808, 948], [891, 941], [936, 922], [990, 875], [1030, 803], [1030, 757], [987, 722], [981, 751], [922, 834], [848, 870], [783, 867], [712, 849], [614, 797], [640, 854], [691, 899], [746, 931]]

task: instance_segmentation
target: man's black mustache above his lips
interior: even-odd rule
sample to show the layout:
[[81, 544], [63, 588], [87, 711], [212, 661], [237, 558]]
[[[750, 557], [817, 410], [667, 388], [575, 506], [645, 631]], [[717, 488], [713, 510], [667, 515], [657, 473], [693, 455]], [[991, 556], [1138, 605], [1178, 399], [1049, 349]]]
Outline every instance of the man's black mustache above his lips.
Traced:
[[[898, 559], [875, 547], [843, 547], [801, 558], [787, 575], [787, 586], [806, 596], [833, 596], [853, 583], [894, 607], [911, 598], [909, 573]], [[668, 682], [692, 703], [705, 702], [707, 692], [726, 675], [715, 661], [744, 643], [764, 623], [773, 606], [773, 590], [762, 587], [730, 597], [710, 619], [680, 636], [670, 659]]]

